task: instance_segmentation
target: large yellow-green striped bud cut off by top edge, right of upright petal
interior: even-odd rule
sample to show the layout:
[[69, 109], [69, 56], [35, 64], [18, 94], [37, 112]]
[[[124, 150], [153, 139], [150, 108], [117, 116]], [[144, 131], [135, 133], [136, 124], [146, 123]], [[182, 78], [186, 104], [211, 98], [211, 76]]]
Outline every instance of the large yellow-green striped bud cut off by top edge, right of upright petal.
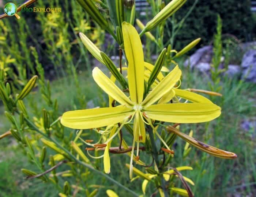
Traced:
[[186, 1], [187, 0], [172, 0], [152, 20], [148, 21], [146, 27], [142, 30], [140, 35], [154, 29], [168, 17], [172, 16]]

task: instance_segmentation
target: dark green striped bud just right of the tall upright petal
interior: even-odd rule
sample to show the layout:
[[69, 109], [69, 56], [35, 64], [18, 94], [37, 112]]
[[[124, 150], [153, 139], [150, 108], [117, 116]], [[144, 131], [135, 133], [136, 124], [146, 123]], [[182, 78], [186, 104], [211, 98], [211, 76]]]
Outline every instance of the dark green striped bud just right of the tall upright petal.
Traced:
[[[161, 71], [161, 68], [163, 67], [163, 64], [165, 63], [165, 58], [166, 58], [166, 48], [164, 48], [162, 50], [161, 54], [157, 58], [157, 61], [155, 62], [154, 69], [151, 72], [151, 75], [148, 79], [148, 90], [149, 90], [150, 86], [154, 83], [159, 72]], [[147, 92], [148, 92], [148, 90], [147, 90]]]

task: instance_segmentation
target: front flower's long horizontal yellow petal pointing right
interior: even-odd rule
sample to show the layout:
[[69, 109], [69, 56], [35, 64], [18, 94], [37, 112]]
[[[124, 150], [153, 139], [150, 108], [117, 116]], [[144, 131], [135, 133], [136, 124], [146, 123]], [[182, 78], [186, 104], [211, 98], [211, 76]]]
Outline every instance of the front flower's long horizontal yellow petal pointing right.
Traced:
[[221, 115], [221, 108], [210, 103], [158, 104], [144, 110], [151, 119], [173, 123], [207, 122]]

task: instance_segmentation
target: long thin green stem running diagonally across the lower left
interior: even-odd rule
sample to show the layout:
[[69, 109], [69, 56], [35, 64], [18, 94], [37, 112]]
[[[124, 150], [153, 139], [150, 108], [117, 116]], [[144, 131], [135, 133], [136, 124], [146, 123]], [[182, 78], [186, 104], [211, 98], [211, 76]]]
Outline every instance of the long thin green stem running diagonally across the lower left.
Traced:
[[116, 180], [114, 180], [113, 178], [109, 177], [108, 175], [106, 175], [105, 173], [102, 173], [101, 171], [93, 168], [93, 166], [84, 163], [82, 161], [79, 161], [78, 159], [76, 159], [76, 157], [74, 155], [72, 155], [67, 149], [65, 149], [63, 146], [61, 146], [59, 144], [59, 142], [57, 142], [55, 139], [49, 137], [48, 135], [42, 133], [42, 131], [40, 131], [29, 119], [25, 118], [25, 121], [27, 122], [27, 124], [33, 128], [33, 130], [35, 130], [37, 133], [41, 134], [42, 136], [44, 136], [45, 138], [49, 139], [50, 141], [54, 142], [57, 146], [59, 146], [60, 149], [62, 149], [63, 151], [65, 151], [65, 153], [67, 153], [75, 162], [79, 163], [80, 165], [89, 168], [90, 170], [94, 171], [95, 173], [98, 173], [99, 175], [107, 178], [109, 181], [113, 182], [114, 184], [120, 186], [121, 188], [123, 188], [124, 190], [132, 193], [134, 196], [139, 197], [138, 194], [136, 194], [135, 192], [133, 192], [132, 190], [130, 190], [129, 188], [125, 187], [124, 185], [120, 184], [119, 182], [117, 182]]

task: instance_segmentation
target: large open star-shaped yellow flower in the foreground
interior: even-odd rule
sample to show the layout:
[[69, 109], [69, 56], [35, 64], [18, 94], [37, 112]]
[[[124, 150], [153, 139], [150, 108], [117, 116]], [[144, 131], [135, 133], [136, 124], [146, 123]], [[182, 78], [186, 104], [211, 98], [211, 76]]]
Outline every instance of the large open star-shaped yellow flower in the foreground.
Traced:
[[[122, 24], [125, 55], [128, 61], [128, 84], [130, 98], [120, 90], [99, 68], [94, 68], [93, 78], [99, 87], [102, 88], [115, 101], [120, 103], [117, 107], [105, 107], [87, 110], [75, 110], [65, 112], [61, 118], [64, 126], [73, 129], [90, 129], [107, 126], [110, 123], [122, 123], [121, 127], [133, 122], [133, 143], [130, 162], [130, 177], [132, 176], [132, 161], [135, 142], [139, 143], [146, 140], [146, 118], [148, 124], [150, 119], [178, 122], [178, 123], [197, 123], [211, 121], [221, 114], [221, 108], [214, 105], [207, 98], [203, 97], [203, 103], [169, 103], [156, 104], [166, 93], [172, 90], [180, 80], [181, 70], [176, 66], [165, 78], [159, 82], [145, 98], [144, 94], [144, 57], [142, 43], [136, 29], [129, 23]], [[187, 91], [186, 91], [187, 92]], [[190, 92], [192, 93], [192, 92]], [[195, 93], [192, 93], [195, 94]], [[196, 95], [196, 94], [195, 94]], [[196, 99], [196, 98], [195, 98]], [[120, 127], [120, 128], [121, 128]], [[105, 142], [108, 144], [119, 132], [119, 129]], [[156, 133], [159, 135], [158, 133]], [[168, 147], [169, 149], [169, 147]], [[137, 149], [138, 155], [138, 149]], [[110, 163], [106, 169], [110, 168]]]

